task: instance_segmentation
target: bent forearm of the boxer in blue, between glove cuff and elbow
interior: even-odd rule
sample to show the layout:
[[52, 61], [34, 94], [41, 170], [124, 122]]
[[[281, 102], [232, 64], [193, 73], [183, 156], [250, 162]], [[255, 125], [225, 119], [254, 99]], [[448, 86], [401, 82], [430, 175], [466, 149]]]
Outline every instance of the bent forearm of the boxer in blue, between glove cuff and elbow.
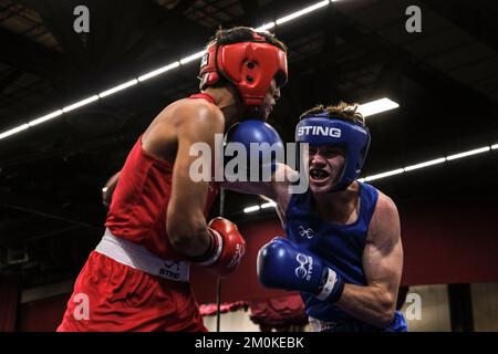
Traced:
[[381, 287], [345, 284], [335, 304], [361, 321], [384, 327], [394, 316], [396, 299]]

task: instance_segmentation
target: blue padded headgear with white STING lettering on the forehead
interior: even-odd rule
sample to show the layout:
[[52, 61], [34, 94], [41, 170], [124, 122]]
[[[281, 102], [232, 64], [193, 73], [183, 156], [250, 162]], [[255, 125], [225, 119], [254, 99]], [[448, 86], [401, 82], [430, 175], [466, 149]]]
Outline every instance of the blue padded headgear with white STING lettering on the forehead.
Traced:
[[295, 127], [295, 142], [311, 146], [332, 145], [344, 149], [344, 167], [332, 191], [346, 189], [359, 176], [370, 146], [370, 132], [363, 124], [334, 118], [328, 112], [305, 116]]

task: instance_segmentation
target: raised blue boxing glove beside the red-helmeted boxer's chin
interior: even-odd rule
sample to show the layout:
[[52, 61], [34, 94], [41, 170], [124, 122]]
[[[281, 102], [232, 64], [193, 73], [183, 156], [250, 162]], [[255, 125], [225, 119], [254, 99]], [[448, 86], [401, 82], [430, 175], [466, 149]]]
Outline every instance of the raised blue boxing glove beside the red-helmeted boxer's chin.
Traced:
[[[269, 124], [247, 119], [232, 125], [227, 133], [225, 147], [225, 171], [229, 181], [246, 180], [270, 181], [277, 168], [277, 162], [283, 162], [283, 143], [277, 131]], [[238, 143], [238, 144], [237, 144]], [[240, 159], [243, 150], [247, 159]], [[237, 156], [235, 159], [230, 156]]]

